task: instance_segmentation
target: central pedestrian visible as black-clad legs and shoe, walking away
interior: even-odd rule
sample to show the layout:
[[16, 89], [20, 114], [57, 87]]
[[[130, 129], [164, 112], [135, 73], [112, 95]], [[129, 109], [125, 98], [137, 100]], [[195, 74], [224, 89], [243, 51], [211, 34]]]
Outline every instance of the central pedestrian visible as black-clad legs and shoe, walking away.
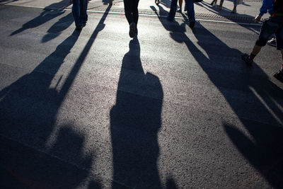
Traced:
[[129, 23], [129, 37], [137, 35], [137, 22], [139, 20], [139, 0], [124, 0], [125, 16]]

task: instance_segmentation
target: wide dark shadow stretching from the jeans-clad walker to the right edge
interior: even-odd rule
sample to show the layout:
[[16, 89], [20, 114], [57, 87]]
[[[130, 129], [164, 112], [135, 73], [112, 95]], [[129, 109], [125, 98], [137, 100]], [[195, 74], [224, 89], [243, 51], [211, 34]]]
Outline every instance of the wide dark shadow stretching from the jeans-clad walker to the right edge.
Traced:
[[[184, 23], [168, 23], [162, 18], [160, 21], [171, 32], [173, 40], [185, 43], [253, 138], [236, 125], [224, 123], [224, 129], [233, 144], [272, 187], [282, 188], [283, 113], [279, 108], [283, 105], [282, 89], [273, 84], [257, 64], [246, 67], [241, 61], [241, 51], [226, 45], [202, 25], [198, 24], [192, 32], [208, 57], [185, 35]], [[238, 59], [238, 62], [229, 62], [232, 58]]]

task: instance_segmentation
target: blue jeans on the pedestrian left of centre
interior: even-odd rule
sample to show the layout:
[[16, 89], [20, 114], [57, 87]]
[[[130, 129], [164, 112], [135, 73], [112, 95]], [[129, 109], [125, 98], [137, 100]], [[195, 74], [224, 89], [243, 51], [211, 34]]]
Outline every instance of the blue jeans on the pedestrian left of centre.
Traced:
[[73, 0], [71, 11], [74, 16], [76, 27], [82, 26], [88, 21], [86, 9], [88, 8], [88, 0]]

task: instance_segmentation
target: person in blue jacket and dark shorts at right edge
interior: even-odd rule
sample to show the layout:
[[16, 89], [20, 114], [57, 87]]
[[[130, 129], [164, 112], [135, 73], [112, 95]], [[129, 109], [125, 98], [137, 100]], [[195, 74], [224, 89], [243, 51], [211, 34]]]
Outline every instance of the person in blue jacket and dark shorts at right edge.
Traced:
[[246, 64], [251, 66], [253, 59], [258, 55], [261, 48], [266, 45], [270, 36], [275, 34], [277, 42], [277, 50], [281, 51], [282, 66], [279, 71], [274, 74], [275, 78], [283, 82], [283, 1], [282, 0], [263, 0], [260, 8], [260, 13], [255, 17], [255, 23], [260, 21], [263, 14], [270, 13], [268, 18], [260, 29], [260, 35], [258, 40], [255, 42], [252, 52], [250, 55], [243, 54], [242, 59]]

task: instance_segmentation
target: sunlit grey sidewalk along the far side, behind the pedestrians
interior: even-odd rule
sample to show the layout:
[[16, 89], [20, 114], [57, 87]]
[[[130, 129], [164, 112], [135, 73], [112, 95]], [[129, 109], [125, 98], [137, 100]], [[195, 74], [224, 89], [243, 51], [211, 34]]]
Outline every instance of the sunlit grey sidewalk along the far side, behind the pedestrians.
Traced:
[[[71, 8], [71, 4], [68, 0], [21, 0], [21, 1], [3, 1], [7, 5], [17, 6], [35, 6], [35, 7], [48, 7], [48, 8]], [[2, 2], [2, 3], [3, 3]], [[241, 22], [241, 23], [253, 23], [253, 19], [257, 16], [262, 0], [246, 0], [243, 4], [237, 6], [237, 13], [231, 13], [233, 9], [233, 1], [226, 0], [221, 11], [215, 6], [210, 6], [211, 1], [205, 0], [201, 3], [195, 4], [195, 13], [197, 19], [213, 20], [213, 21], [229, 21], [229, 22]], [[154, 0], [143, 0], [139, 2], [139, 13], [166, 16], [170, 10], [170, 0], [162, 0], [161, 3], [156, 6]], [[183, 2], [185, 4], [185, 1]], [[88, 11], [105, 11], [108, 6], [108, 0], [91, 0], [88, 3]], [[154, 11], [156, 10], [156, 12]], [[123, 1], [113, 1], [113, 6], [110, 9], [111, 12], [123, 13], [124, 5]], [[177, 18], [183, 18], [185, 14], [177, 13]], [[262, 17], [262, 19], [268, 18], [268, 15]]]

